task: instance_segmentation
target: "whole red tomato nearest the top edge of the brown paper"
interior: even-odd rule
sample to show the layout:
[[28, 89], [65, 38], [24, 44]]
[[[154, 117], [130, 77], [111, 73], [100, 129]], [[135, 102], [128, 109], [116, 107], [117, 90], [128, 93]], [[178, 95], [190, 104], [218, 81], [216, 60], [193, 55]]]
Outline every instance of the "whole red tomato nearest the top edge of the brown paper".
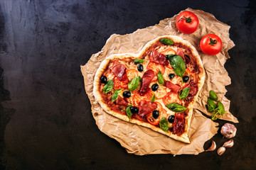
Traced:
[[195, 13], [183, 11], [176, 19], [176, 26], [181, 33], [190, 34], [196, 31], [199, 21]]

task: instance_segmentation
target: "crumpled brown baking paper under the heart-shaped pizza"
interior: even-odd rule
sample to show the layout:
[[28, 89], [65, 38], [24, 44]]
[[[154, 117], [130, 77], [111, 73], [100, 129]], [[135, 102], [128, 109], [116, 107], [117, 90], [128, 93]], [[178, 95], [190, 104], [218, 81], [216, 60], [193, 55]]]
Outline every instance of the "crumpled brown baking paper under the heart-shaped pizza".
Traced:
[[[117, 140], [129, 153], [138, 155], [199, 154], [204, 151], [203, 144], [217, 133], [218, 128], [216, 126], [218, 126], [218, 123], [206, 118], [196, 109], [206, 113], [206, 115], [211, 115], [211, 113], [206, 111], [205, 107], [210, 90], [216, 92], [218, 98], [225, 106], [225, 110], [228, 110], [230, 107], [230, 101], [224, 96], [226, 93], [225, 86], [230, 84], [230, 77], [228, 77], [228, 72], [226, 72], [224, 64], [229, 58], [228, 50], [234, 47], [234, 43], [230, 40], [228, 33], [230, 26], [216, 20], [210, 13], [191, 8], [187, 8], [186, 11], [192, 11], [198, 16], [200, 24], [195, 33], [190, 35], [180, 33], [176, 28], [175, 21], [178, 16], [176, 15], [160, 21], [155, 26], [139, 29], [131, 34], [111, 35], [102, 50], [92, 55], [87, 64], [81, 66], [81, 72], [85, 80], [85, 90], [90, 98], [92, 115], [96, 120], [98, 128], [106, 135]], [[223, 50], [218, 55], [205, 55], [200, 50], [199, 42], [201, 38], [209, 33], [215, 33], [223, 40]], [[125, 52], [138, 53], [142, 50], [146, 42], [161, 35], [178, 35], [184, 40], [191, 42], [198, 50], [206, 70], [206, 81], [194, 105], [196, 109], [193, 111], [191, 129], [188, 133], [191, 144], [178, 142], [149, 128], [127, 123], [109, 115], [102, 110], [100, 104], [95, 101], [95, 97], [92, 94], [95, 73], [105, 57]], [[220, 119], [238, 123], [237, 118], [229, 111], [220, 117]]]

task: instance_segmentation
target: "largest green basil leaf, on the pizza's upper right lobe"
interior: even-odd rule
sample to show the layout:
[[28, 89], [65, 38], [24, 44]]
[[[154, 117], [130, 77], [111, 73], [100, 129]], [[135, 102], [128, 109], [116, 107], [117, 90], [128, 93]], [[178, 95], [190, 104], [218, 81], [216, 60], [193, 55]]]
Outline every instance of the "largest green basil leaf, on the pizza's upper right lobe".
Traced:
[[182, 76], [185, 73], [185, 69], [186, 69], [186, 64], [183, 60], [183, 58], [179, 55], [174, 55], [173, 57], [169, 58], [169, 60], [171, 60], [171, 67], [174, 68], [174, 72], [181, 77], [181, 81], [182, 80]]

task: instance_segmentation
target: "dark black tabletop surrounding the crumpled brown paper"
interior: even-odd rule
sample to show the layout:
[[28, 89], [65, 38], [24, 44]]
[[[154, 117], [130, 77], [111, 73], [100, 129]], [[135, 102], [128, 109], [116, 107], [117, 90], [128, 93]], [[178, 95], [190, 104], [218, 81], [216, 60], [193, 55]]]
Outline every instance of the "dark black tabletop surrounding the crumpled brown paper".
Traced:
[[[225, 69], [230, 112], [240, 121], [235, 145], [222, 156], [127, 154], [97, 128], [80, 65], [113, 33], [154, 26], [188, 7], [231, 26], [235, 47]], [[256, 169], [255, 18], [252, 0], [1, 0], [0, 169]], [[220, 132], [213, 140], [226, 141]]]

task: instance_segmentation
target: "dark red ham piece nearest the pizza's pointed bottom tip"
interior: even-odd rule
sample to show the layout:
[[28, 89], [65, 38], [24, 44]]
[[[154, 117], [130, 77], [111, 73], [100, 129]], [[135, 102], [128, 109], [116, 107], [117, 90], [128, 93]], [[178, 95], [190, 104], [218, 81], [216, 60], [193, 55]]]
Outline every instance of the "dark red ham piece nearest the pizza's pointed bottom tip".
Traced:
[[173, 134], [180, 135], [185, 130], [185, 119], [183, 113], [176, 113], [174, 124], [173, 124]]

